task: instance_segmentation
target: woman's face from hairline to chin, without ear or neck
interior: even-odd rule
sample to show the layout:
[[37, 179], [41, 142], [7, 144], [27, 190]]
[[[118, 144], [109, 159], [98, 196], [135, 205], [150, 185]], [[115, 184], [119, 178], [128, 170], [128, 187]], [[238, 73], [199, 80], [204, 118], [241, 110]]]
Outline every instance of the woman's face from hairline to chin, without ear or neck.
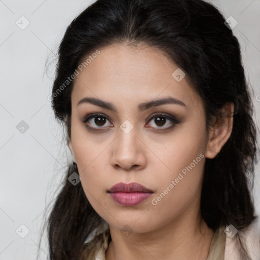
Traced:
[[[70, 147], [88, 201], [110, 225], [137, 233], [197, 216], [208, 157], [200, 96], [158, 49], [112, 45], [99, 51], [72, 92]], [[84, 98], [95, 104], [80, 102]], [[84, 122], [93, 113], [101, 115]], [[143, 201], [137, 193], [109, 193], [119, 182], [137, 182], [153, 193], [139, 193]]]

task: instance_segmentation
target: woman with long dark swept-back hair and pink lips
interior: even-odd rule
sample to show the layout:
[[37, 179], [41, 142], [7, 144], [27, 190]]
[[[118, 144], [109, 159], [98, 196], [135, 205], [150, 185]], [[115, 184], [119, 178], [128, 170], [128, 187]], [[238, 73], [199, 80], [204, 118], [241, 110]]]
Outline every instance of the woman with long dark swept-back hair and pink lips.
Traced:
[[260, 258], [252, 103], [215, 7], [96, 1], [62, 39], [52, 107], [74, 161], [50, 259]]

